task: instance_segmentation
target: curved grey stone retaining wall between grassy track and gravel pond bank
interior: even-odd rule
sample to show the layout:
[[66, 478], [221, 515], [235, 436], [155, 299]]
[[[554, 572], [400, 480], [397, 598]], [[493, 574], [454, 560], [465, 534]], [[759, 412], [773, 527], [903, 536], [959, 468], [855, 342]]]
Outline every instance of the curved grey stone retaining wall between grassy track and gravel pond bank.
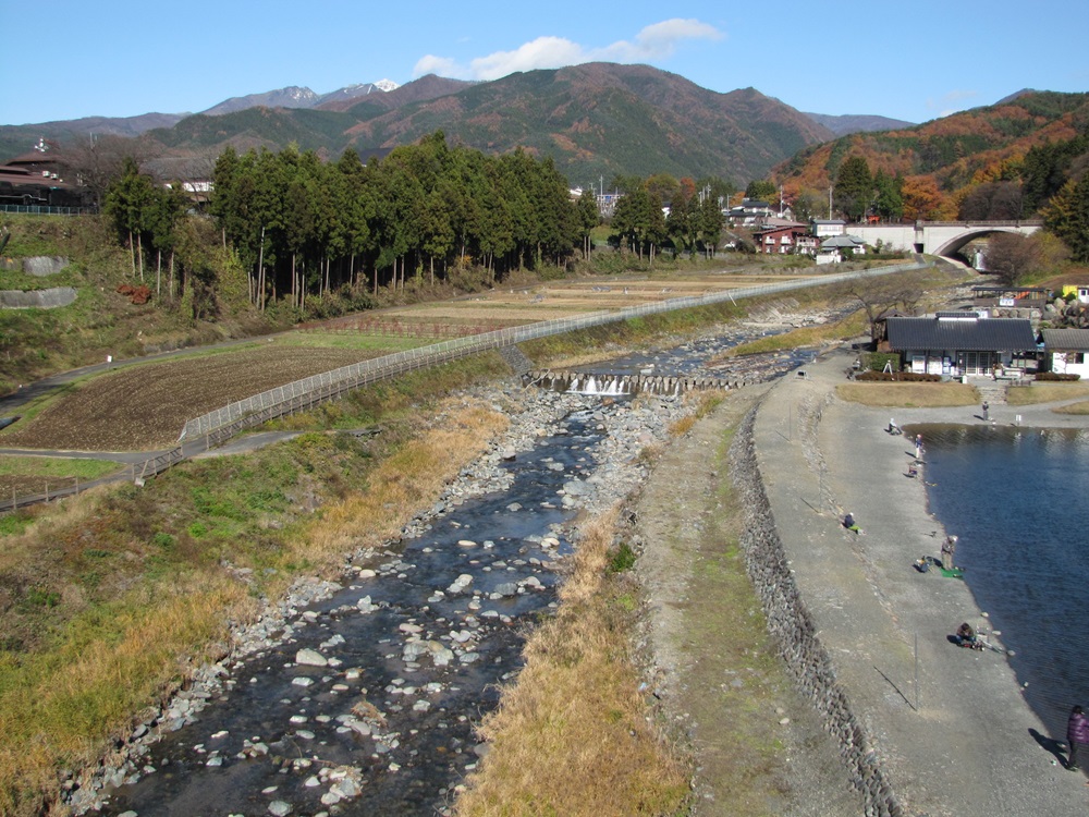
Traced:
[[892, 791], [883, 765], [836, 683], [835, 668], [817, 636], [787, 563], [756, 459], [752, 428], [759, 405], [749, 412], [730, 449], [735, 488], [745, 509], [742, 548], [749, 578], [760, 598], [768, 630], [779, 643], [796, 686], [809, 698], [840, 745], [851, 785], [861, 792], [865, 814], [903, 817], [906, 809]]

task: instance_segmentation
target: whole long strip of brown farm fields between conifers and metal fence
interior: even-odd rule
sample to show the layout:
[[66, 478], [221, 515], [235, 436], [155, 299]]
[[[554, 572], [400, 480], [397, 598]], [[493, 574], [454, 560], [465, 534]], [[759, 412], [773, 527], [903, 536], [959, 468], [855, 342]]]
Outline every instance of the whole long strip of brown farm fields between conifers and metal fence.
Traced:
[[702, 273], [594, 278], [492, 290], [301, 327], [270, 343], [126, 365], [68, 387], [0, 447], [150, 451], [173, 446], [185, 422], [310, 375], [445, 338], [577, 317], [806, 276]]

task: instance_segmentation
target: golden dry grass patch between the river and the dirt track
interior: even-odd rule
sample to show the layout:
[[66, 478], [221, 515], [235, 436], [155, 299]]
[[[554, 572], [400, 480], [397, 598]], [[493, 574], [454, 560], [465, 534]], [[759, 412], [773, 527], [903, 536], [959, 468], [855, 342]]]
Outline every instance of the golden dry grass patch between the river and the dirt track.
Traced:
[[455, 803], [477, 815], [668, 815], [688, 795], [683, 765], [648, 722], [629, 656], [633, 599], [607, 571], [614, 514], [584, 529], [555, 617], [485, 718], [491, 751]]

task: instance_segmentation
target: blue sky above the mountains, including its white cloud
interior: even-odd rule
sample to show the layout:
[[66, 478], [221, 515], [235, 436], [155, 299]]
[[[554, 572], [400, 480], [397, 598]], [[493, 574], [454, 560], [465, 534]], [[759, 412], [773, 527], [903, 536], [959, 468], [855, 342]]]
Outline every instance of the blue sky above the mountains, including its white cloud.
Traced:
[[0, 124], [205, 110], [289, 85], [641, 62], [803, 111], [925, 122], [1089, 90], [1085, 0], [0, 0]]

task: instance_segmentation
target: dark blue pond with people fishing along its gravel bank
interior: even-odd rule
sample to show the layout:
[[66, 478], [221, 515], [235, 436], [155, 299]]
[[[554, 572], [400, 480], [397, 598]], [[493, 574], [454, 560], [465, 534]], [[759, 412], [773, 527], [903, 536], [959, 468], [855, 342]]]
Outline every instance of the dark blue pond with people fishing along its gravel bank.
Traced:
[[1051, 737], [1089, 705], [1086, 502], [1089, 431], [913, 426], [926, 444], [930, 510], [957, 534], [965, 581], [1001, 631]]

